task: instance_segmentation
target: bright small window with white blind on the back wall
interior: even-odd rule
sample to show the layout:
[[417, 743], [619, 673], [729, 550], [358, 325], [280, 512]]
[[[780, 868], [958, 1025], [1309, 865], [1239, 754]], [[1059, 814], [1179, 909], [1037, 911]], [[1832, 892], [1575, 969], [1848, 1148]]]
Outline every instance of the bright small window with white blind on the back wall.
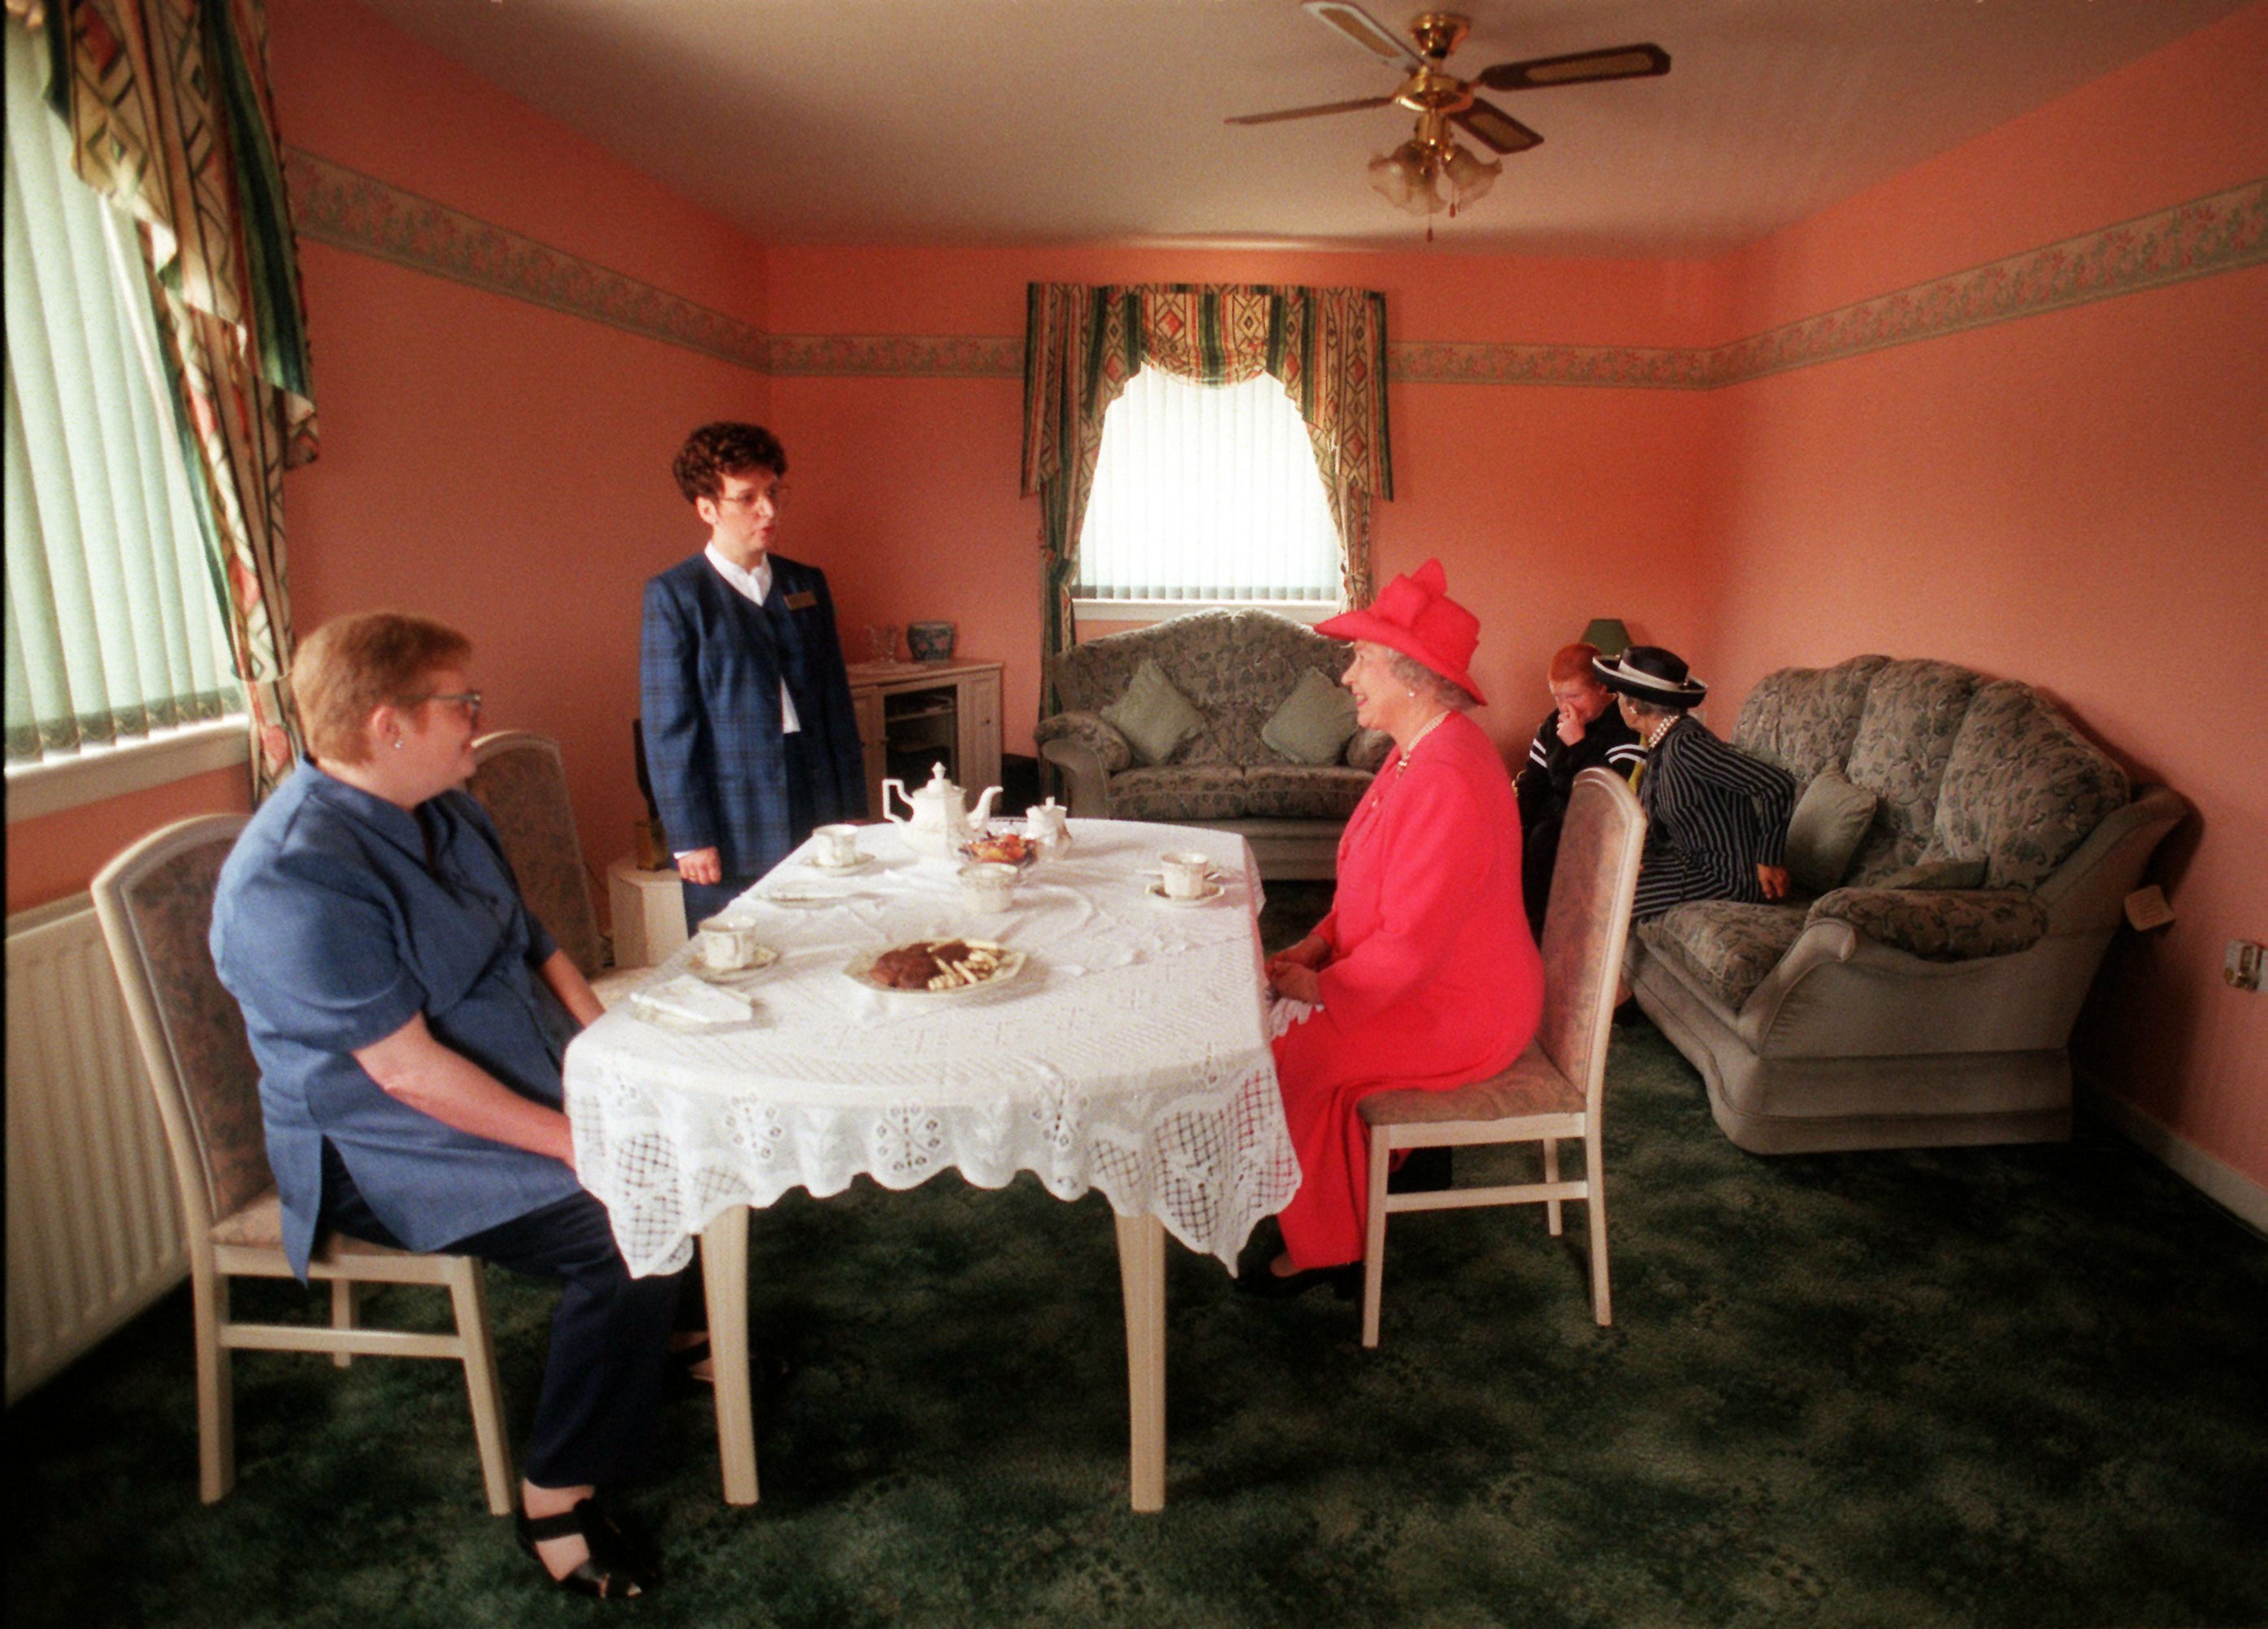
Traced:
[[1143, 368], [1102, 417], [1073, 597], [1089, 615], [1338, 606], [1338, 529], [1284, 381]]

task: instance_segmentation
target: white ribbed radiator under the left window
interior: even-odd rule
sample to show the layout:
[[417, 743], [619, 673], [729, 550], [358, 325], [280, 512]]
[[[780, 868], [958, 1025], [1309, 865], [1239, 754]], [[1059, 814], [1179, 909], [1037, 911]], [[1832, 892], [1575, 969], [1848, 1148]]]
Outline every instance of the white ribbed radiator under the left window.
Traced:
[[166, 1128], [86, 894], [7, 919], [7, 1400], [188, 1275]]

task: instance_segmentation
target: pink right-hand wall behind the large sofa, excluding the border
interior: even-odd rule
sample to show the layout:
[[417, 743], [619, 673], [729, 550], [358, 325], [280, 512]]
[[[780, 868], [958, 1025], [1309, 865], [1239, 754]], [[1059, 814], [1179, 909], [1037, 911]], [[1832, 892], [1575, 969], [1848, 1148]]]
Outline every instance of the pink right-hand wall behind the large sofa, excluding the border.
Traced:
[[[2252, 7], [1744, 252], [1751, 324], [2268, 175], [2261, 84]], [[2152, 869], [2180, 919], [2121, 935], [2080, 1066], [2268, 1182], [2268, 1001], [2220, 982], [2268, 937], [2268, 268], [1719, 395], [1719, 694], [1948, 658], [2191, 799]]]

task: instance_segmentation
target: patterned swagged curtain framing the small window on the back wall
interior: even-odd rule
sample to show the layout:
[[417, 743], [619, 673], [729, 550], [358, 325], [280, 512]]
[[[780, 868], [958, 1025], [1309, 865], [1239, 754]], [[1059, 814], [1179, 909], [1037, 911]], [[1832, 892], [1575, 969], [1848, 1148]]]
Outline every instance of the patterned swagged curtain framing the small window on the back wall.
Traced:
[[1039, 495], [1041, 717], [1070, 647], [1080, 526], [1102, 415], [1145, 365], [1209, 386], [1284, 381], [1315, 445], [1338, 526], [1340, 590], [1370, 604], [1370, 501], [1393, 499], [1386, 295], [1243, 284], [1030, 284], [1023, 334], [1023, 490]]

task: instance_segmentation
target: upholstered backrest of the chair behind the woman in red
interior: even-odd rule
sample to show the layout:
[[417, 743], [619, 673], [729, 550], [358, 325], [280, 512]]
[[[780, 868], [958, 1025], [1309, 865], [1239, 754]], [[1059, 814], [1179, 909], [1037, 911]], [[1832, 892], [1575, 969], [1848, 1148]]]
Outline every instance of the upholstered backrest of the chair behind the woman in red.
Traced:
[[1585, 769], [1574, 778], [1545, 908], [1545, 1014], [1535, 1041], [1567, 1080], [1588, 1082], [1592, 1112], [1644, 830], [1647, 817], [1622, 776]]

